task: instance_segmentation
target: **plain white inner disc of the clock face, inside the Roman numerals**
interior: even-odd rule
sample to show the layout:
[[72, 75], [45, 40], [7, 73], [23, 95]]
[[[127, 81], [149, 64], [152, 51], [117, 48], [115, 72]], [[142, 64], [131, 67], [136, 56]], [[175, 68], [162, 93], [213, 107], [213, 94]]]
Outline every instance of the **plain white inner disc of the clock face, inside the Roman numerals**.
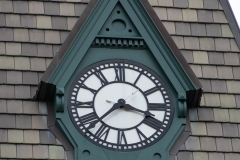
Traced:
[[[147, 100], [144, 95], [141, 92], [133, 95], [136, 90], [136, 87], [127, 83], [111, 83], [104, 86], [98, 91], [94, 99], [96, 114], [98, 117], [101, 117], [115, 103], [118, 103], [120, 108], [109, 113], [102, 121], [111, 127], [121, 129], [132, 128], [138, 125], [145, 118], [145, 115], [124, 109], [124, 105], [129, 104], [139, 110], [147, 110]], [[107, 102], [107, 100], [111, 100], [112, 103]]]

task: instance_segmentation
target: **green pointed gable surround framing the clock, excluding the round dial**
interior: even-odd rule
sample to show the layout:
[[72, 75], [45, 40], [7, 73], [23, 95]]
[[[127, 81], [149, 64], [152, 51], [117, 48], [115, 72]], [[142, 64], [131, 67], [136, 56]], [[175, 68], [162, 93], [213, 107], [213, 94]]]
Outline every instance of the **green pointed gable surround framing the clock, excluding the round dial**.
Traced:
[[[84, 18], [85, 17], [85, 18]], [[92, 0], [47, 69], [36, 97], [46, 100], [55, 86], [55, 125], [74, 148], [76, 160], [168, 160], [186, 125], [187, 108], [200, 101], [201, 85], [145, 0]], [[142, 150], [118, 152], [96, 146], [73, 125], [67, 110], [70, 86], [86, 67], [125, 59], [141, 63], [170, 88], [174, 117], [162, 139]], [[49, 116], [49, 115], [48, 115]]]

